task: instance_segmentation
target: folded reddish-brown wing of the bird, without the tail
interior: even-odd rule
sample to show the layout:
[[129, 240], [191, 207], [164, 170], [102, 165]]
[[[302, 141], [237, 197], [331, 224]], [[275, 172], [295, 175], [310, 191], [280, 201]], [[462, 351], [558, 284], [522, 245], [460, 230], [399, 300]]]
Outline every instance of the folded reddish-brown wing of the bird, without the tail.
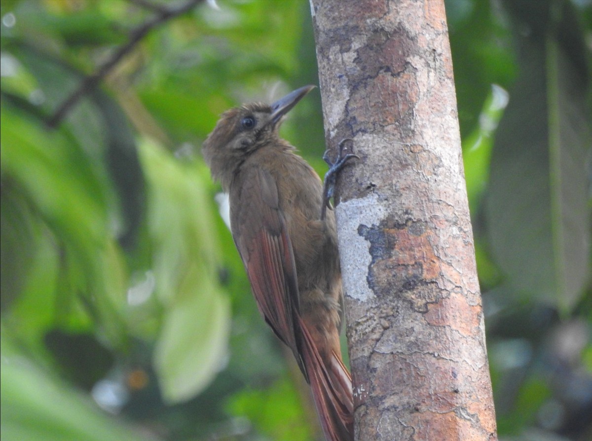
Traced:
[[[289, 348], [306, 376], [294, 325], [298, 284], [294, 252], [279, 211], [274, 177], [260, 167], [243, 168], [231, 190], [231, 229], [260, 313]], [[298, 326], [298, 325], [296, 325]]]

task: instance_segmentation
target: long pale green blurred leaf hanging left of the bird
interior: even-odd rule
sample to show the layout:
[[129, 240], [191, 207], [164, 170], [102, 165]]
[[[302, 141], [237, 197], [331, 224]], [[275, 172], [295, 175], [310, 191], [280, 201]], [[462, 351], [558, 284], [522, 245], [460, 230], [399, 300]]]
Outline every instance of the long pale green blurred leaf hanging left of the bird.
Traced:
[[230, 304], [218, 283], [213, 202], [198, 163], [179, 163], [152, 142], [141, 158], [150, 186], [157, 296], [165, 306], [154, 365], [165, 400], [188, 400], [227, 355]]

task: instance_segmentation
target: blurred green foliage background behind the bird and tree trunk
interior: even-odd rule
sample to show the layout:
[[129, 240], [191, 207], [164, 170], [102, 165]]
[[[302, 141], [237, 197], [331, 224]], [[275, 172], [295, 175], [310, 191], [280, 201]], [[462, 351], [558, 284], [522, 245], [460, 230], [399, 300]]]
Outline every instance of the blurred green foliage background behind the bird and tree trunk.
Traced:
[[[179, 4], [0, 2], [6, 441], [318, 439], [199, 154], [227, 108], [317, 83], [308, 2], [199, 4], [45, 124]], [[592, 2], [446, 11], [498, 431], [588, 440]], [[282, 134], [324, 173], [318, 92]]]

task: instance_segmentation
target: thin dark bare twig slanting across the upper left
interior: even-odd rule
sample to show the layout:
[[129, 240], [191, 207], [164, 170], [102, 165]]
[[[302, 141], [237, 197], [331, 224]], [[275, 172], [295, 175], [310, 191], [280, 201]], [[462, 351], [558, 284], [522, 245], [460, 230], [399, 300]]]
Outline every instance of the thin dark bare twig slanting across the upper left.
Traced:
[[204, 0], [188, 0], [178, 8], [160, 8], [160, 10], [156, 12], [155, 17], [147, 20], [139, 27], [134, 29], [131, 32], [130, 40], [118, 48], [118, 50], [115, 51], [115, 53], [113, 53], [112, 56], [107, 61], [105, 61], [105, 63], [99, 66], [95, 73], [86, 76], [82, 80], [78, 86], [78, 89], [74, 90], [74, 92], [72, 92], [70, 96], [68, 96], [68, 98], [66, 98], [66, 100], [63, 101], [62, 104], [57, 108], [49, 121], [47, 121], [47, 125], [50, 128], [57, 127], [62, 119], [65, 118], [67, 113], [73, 108], [73, 106], [75, 106], [84, 95], [91, 92], [91, 90], [93, 90], [96, 85], [101, 82], [101, 80], [111, 71], [111, 69], [113, 69], [113, 67], [115, 67], [115, 65], [121, 59], [123, 59], [124, 56], [130, 53], [130, 51], [136, 46], [136, 44], [139, 43], [142, 38], [146, 36], [146, 34], [148, 34], [160, 24], [163, 24], [172, 18], [178, 17], [179, 15], [185, 14], [185, 12], [190, 11], [195, 7], [195, 5], [202, 1]]

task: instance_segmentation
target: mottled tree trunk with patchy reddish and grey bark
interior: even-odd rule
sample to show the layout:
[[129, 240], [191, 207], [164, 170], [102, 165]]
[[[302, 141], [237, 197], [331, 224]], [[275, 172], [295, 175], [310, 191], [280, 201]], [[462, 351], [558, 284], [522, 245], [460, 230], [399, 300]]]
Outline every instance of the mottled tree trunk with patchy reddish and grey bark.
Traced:
[[442, 0], [311, 0], [356, 439], [495, 440]]

